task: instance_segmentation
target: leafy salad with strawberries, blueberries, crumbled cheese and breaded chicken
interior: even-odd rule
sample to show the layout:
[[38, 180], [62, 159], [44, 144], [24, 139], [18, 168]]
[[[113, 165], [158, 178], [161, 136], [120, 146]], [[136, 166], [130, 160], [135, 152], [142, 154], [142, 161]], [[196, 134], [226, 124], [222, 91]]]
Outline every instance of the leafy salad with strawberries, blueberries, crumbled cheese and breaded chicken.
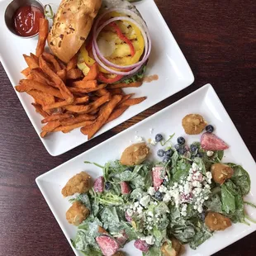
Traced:
[[228, 145], [211, 125], [196, 130], [204, 129], [201, 142], [192, 145], [183, 137], [172, 145], [173, 135], [165, 142], [156, 135], [163, 145], [156, 161], [149, 161], [149, 146], [140, 142], [104, 166], [85, 162], [102, 168], [102, 176], [92, 183], [87, 173], [78, 173], [63, 189], [65, 197], [73, 195], [66, 213], [78, 225], [73, 247], [90, 256], [121, 256], [126, 254], [120, 249], [134, 241], [143, 255], [175, 256], [183, 244], [197, 249], [233, 223], [249, 225], [244, 204], [254, 204], [243, 199], [250, 191], [249, 173], [222, 163]]

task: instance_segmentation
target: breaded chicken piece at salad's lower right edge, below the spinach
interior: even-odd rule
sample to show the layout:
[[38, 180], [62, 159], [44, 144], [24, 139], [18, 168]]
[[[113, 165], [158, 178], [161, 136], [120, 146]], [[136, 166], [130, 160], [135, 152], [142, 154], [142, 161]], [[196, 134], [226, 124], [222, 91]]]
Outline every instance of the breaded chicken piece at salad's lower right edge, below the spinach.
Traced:
[[232, 225], [230, 218], [214, 211], [208, 212], [205, 223], [211, 231], [225, 230]]

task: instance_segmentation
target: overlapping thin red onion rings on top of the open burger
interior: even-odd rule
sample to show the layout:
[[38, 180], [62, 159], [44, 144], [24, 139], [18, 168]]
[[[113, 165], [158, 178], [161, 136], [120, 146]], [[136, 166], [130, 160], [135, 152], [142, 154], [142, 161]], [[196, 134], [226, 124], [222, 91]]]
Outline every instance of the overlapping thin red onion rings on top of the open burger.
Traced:
[[[108, 24], [110, 24], [111, 22], [113, 21], [130, 21], [131, 23], [134, 23], [135, 26], [138, 26], [143, 37], [144, 37], [144, 40], [145, 40], [145, 55], [143, 57], [142, 60], [140, 60], [139, 62], [137, 62], [136, 64], [132, 64], [132, 65], [129, 65], [129, 66], [121, 66], [121, 65], [116, 65], [116, 64], [113, 64], [111, 63], [109, 60], [107, 60], [100, 52], [99, 48], [98, 48], [98, 45], [97, 45], [97, 36], [99, 35], [99, 33], [102, 31], [102, 29], [107, 26]], [[148, 32], [148, 31], [147, 31]], [[137, 70], [140, 69], [140, 67], [145, 64], [146, 60], [149, 58], [149, 54], [150, 54], [150, 51], [151, 51], [151, 40], [148, 41], [148, 38], [147, 36], [145, 35], [145, 31], [141, 28], [140, 24], [137, 23], [136, 21], [130, 19], [129, 17], [114, 17], [114, 18], [111, 18], [110, 20], [104, 22], [102, 24], [102, 26], [100, 26], [97, 31], [96, 31], [96, 34], [93, 35], [93, 40], [92, 40], [92, 53], [93, 53], [93, 56], [95, 58], [95, 60], [102, 66], [102, 68], [106, 69], [107, 71], [109, 72], [112, 72], [112, 73], [116, 73], [116, 74], [121, 74], [121, 75], [129, 75], [130, 73], [135, 73]], [[106, 64], [108, 64], [109, 66], [113, 67], [113, 68], [116, 68], [116, 69], [134, 69], [134, 70], [131, 70], [130, 72], [119, 72], [119, 71], [116, 71], [114, 69], [110, 69], [109, 67], [107, 67], [107, 65], [103, 64], [101, 59], [98, 58], [98, 56], [102, 59], [102, 61], [104, 61]], [[139, 68], [139, 69], [137, 69]]]

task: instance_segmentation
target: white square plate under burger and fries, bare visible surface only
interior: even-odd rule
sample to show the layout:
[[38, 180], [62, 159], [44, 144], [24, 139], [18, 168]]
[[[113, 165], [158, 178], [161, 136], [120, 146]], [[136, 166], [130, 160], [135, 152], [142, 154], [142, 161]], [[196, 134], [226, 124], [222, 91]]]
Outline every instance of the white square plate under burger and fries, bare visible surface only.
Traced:
[[[12, 86], [16, 86], [22, 78], [21, 70], [26, 68], [22, 54], [35, 52], [37, 38], [31, 40], [21, 39], [13, 36], [7, 30], [3, 17], [9, 2], [0, 2], [0, 60], [11, 80]], [[47, 0], [41, 2], [44, 4], [49, 3]], [[58, 4], [60, 0], [51, 0], [50, 2]], [[136, 97], [146, 96], [148, 98], [145, 102], [135, 107], [130, 107], [124, 115], [115, 121], [111, 121], [107, 126], [102, 127], [97, 132], [97, 135], [110, 130], [130, 119], [130, 117], [139, 114], [141, 111], [145, 111], [145, 109], [163, 101], [166, 97], [183, 90], [183, 88], [186, 88], [194, 81], [192, 70], [187, 64], [187, 60], [184, 58], [182, 51], [179, 49], [177, 42], [173, 38], [171, 31], [169, 31], [154, 1], [144, 0], [135, 3], [135, 5], [149, 26], [149, 32], [153, 42], [147, 74], [158, 74], [159, 80], [152, 83], [145, 83], [140, 88], [126, 88], [124, 91], [127, 93], [135, 92]], [[40, 135], [42, 126], [40, 123], [41, 117], [36, 113], [34, 107], [31, 106], [32, 98], [26, 93], [17, 93], [17, 96], [27, 116], [30, 118], [32, 125], [35, 127], [37, 134]], [[47, 151], [53, 156], [63, 154], [88, 141], [87, 136], [81, 134], [79, 129], [73, 130], [69, 134], [63, 134], [61, 132], [54, 133], [41, 140]]]

